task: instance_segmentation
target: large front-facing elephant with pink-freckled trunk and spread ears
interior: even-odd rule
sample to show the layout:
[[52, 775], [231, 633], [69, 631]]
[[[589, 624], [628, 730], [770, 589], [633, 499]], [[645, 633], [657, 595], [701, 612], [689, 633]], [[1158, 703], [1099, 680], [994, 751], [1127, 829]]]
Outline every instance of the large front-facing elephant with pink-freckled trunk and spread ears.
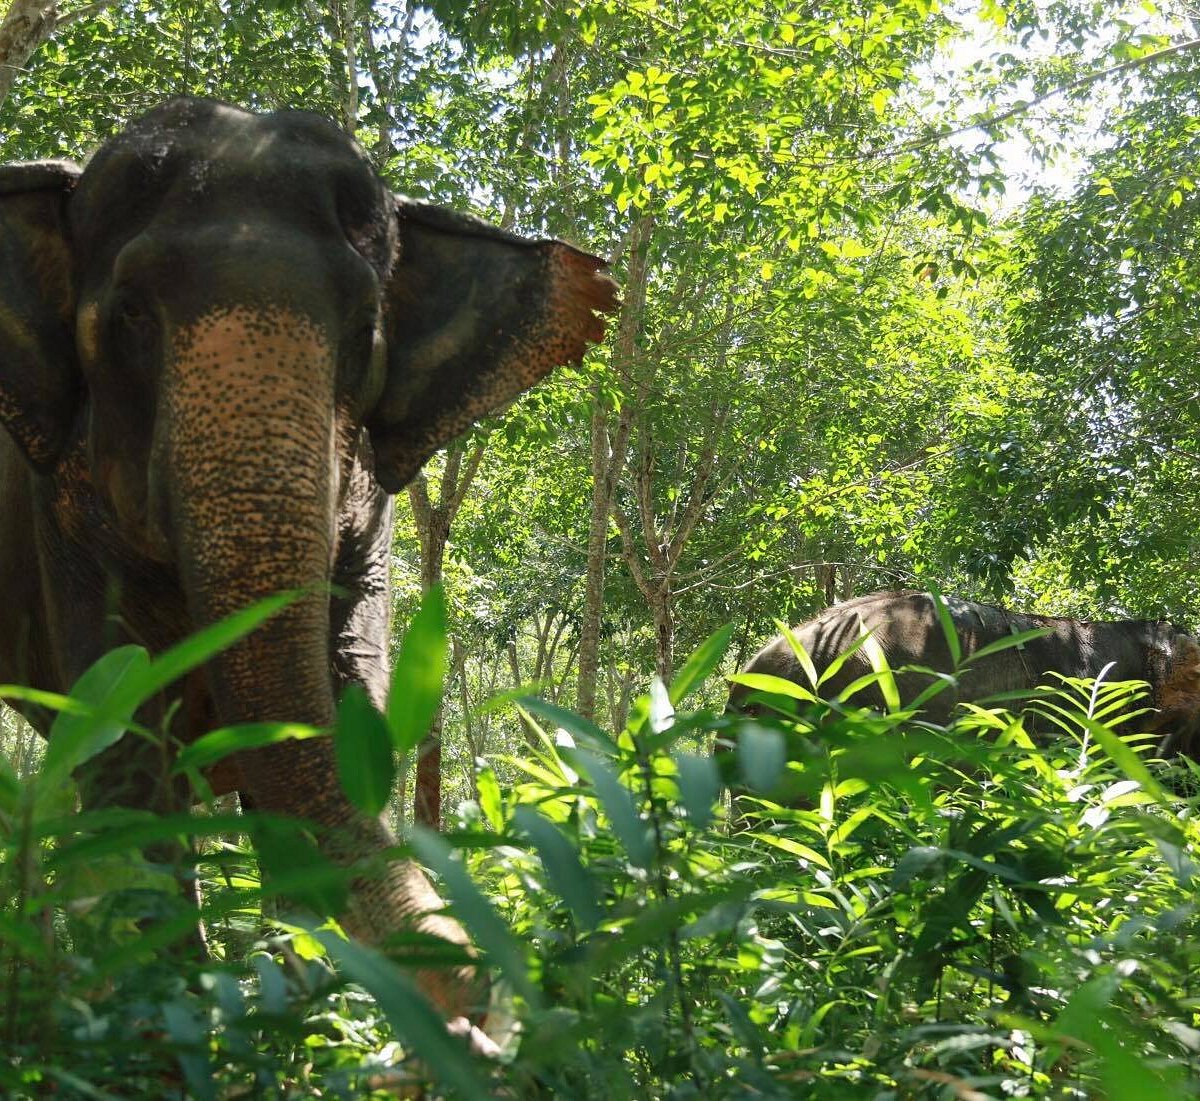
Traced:
[[[382, 704], [389, 494], [601, 339], [604, 266], [394, 194], [300, 112], [172, 100], [85, 168], [0, 167], [0, 681], [65, 692], [115, 644], [162, 651], [304, 589], [158, 721], [178, 705], [180, 742], [328, 727], [349, 682]], [[126, 736], [80, 777], [85, 805], [180, 805], [161, 756]], [[394, 843], [342, 794], [330, 739], [233, 762], [257, 808], [316, 823], [337, 861]], [[342, 920], [464, 941], [440, 907], [392, 860]], [[449, 1015], [474, 997], [466, 970], [419, 977]]]

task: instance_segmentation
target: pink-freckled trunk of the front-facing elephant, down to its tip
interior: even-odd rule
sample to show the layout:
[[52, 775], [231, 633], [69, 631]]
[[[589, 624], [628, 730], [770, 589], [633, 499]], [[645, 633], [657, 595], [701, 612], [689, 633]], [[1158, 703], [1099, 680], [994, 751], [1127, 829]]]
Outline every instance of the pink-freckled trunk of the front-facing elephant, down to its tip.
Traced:
[[[322, 329], [282, 307], [216, 308], [173, 341], [156, 447], [166, 453], [184, 589], [209, 624], [284, 589], [314, 586], [210, 668], [223, 724], [293, 721], [330, 727], [329, 598], [336, 501], [347, 457], [338, 440], [334, 349]], [[341, 864], [395, 838], [356, 811], [334, 781], [331, 739], [252, 751], [239, 765], [264, 811], [314, 822]], [[467, 944], [457, 922], [410, 861], [355, 882], [346, 928], [378, 943], [397, 926]], [[470, 1013], [472, 969], [419, 971], [449, 1016]]]

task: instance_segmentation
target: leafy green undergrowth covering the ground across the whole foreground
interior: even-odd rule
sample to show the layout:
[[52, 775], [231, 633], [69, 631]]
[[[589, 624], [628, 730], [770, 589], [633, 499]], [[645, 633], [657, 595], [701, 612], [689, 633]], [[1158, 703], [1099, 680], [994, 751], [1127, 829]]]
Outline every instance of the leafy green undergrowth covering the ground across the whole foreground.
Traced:
[[[70, 699], [40, 699], [62, 727], [31, 782], [0, 760], [0, 1091], [364, 1097], [428, 1083], [430, 1096], [619, 1101], [1200, 1089], [1189, 794], [1200, 770], [1150, 759], [1138, 686], [1067, 681], [937, 727], [901, 706], [877, 662], [839, 700], [758, 682], [754, 717], [684, 710], [727, 637], [670, 690], [653, 682], [624, 730], [510, 702], [528, 745], [480, 762], [479, 801], [458, 829], [407, 838], [517, 1023], [496, 1060], [469, 1058], [445, 1033], [403, 970], [403, 945], [385, 955], [338, 934], [326, 915], [346, 873], [300, 828], [211, 801], [186, 818], [74, 811], [71, 771], [133, 726], [180, 666], [109, 655]], [[397, 668], [398, 698], [419, 660]], [[856, 706], [866, 682], [883, 688], [883, 714]], [[347, 790], [376, 800], [377, 780], [355, 762], [379, 760], [378, 745], [360, 747], [388, 724], [355, 704], [336, 736], [354, 747], [340, 756]], [[184, 769], [235, 742], [197, 744]], [[410, 748], [392, 739], [384, 752], [403, 766]], [[188, 877], [203, 888], [206, 956], [186, 944], [194, 926], [175, 882]]]

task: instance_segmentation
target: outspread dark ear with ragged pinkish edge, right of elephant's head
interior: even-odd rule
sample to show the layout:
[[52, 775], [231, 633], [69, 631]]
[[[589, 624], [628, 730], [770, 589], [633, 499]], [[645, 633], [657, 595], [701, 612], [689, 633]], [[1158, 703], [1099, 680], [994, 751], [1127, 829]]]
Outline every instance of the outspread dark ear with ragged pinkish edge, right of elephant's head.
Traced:
[[402, 489], [439, 447], [604, 337], [605, 261], [396, 198], [388, 378], [367, 421], [376, 476]]

